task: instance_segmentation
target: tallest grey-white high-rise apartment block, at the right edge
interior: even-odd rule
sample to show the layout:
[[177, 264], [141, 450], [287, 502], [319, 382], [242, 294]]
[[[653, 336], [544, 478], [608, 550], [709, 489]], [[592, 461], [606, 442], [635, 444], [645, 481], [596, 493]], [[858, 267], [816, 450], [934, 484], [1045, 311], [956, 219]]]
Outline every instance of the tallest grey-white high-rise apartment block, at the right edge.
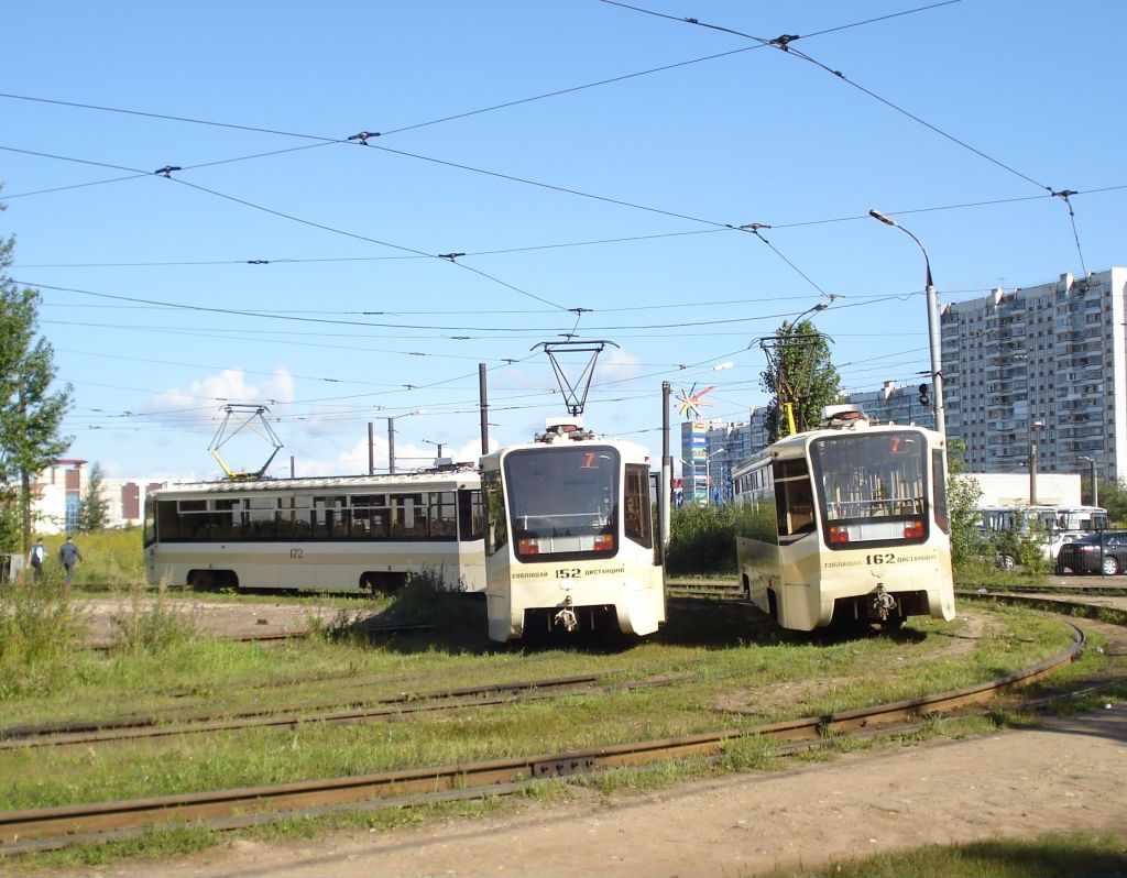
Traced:
[[1125, 287], [1127, 268], [1111, 268], [942, 307], [947, 432], [970, 471], [1032, 456], [1047, 472], [1127, 475]]

